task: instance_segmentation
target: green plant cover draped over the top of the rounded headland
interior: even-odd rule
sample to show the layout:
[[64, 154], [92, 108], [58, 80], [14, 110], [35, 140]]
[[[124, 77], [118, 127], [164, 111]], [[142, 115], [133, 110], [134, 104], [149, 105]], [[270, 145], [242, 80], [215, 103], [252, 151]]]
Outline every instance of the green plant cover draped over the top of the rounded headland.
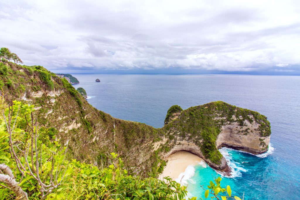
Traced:
[[[176, 112], [176, 109], [174, 110]], [[259, 124], [258, 129], [261, 136], [271, 134], [270, 123], [265, 116], [260, 115], [258, 112], [238, 108], [222, 101], [190, 107], [182, 111], [178, 119], [173, 120], [163, 129], [166, 135], [169, 136], [169, 139], [172, 139], [171, 135], [168, 134], [170, 128], [172, 128], [173, 133], [176, 133], [176, 137], [185, 138], [189, 136], [187, 139], [193, 140], [201, 148], [206, 159], [209, 159], [212, 163], [220, 164], [223, 156], [217, 150], [216, 139], [221, 132], [221, 126], [236, 122], [242, 128], [246, 120], [250, 123], [253, 123], [255, 120]], [[247, 134], [248, 131], [249, 129], [243, 129], [240, 132]], [[266, 146], [263, 142], [260, 145], [262, 148]]]

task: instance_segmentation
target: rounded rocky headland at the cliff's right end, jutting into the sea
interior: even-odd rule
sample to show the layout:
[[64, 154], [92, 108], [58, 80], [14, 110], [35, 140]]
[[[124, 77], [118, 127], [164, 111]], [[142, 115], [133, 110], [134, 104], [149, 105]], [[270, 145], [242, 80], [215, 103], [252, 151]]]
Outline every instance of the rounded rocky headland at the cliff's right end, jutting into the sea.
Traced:
[[270, 123], [258, 112], [217, 101], [173, 112], [168, 118], [172, 121], [163, 127], [168, 136], [162, 144], [167, 149], [162, 153], [165, 157], [180, 150], [189, 151], [212, 168], [228, 172], [219, 148], [226, 146], [253, 154], [268, 150]]

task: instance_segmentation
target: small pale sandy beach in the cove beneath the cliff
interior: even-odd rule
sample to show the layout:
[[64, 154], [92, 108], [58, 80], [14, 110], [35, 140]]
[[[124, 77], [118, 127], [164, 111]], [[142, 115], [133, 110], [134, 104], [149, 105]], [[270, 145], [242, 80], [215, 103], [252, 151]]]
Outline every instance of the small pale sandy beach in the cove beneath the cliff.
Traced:
[[163, 173], [159, 176], [160, 179], [170, 176], [173, 180], [176, 180], [179, 178], [181, 173], [185, 172], [185, 169], [187, 169], [189, 165], [195, 165], [201, 161], [205, 163], [202, 158], [188, 151], [177, 151], [175, 154], [170, 155], [167, 160], [167, 166], [164, 168]]

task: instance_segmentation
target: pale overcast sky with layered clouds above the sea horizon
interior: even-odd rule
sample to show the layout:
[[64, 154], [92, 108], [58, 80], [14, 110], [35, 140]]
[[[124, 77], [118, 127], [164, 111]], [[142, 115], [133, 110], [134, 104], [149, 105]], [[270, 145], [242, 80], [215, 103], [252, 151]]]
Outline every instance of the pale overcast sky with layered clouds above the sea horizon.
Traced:
[[54, 72], [300, 75], [298, 0], [1, 0], [0, 27]]

